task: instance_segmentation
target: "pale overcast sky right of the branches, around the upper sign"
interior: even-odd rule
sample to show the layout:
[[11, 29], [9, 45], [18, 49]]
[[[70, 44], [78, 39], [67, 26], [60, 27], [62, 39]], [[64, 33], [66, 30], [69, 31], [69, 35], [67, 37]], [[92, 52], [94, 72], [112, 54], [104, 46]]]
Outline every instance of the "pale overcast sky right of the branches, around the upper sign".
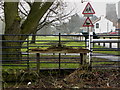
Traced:
[[82, 16], [82, 11], [84, 10], [85, 6], [87, 5], [89, 1], [96, 13], [95, 15], [100, 17], [101, 15], [105, 16], [107, 3], [116, 4], [116, 9], [118, 9], [117, 3], [120, 0], [84, 0], [85, 1], [84, 3], [81, 3], [81, 0], [65, 0], [65, 1], [69, 2], [68, 9], [69, 10], [75, 9], [74, 13], [77, 12], [80, 16]]

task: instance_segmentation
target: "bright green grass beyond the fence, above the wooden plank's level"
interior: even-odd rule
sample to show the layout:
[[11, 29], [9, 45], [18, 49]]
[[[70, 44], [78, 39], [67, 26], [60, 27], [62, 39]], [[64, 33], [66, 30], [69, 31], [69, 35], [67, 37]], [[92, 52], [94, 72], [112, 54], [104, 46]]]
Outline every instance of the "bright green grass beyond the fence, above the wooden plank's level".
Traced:
[[[29, 40], [31, 40], [31, 37], [29, 38]], [[45, 37], [40, 36], [40, 37], [37, 37], [36, 40], [57, 40], [57, 41], [59, 41], [59, 38], [58, 38], [58, 36], [45, 36]], [[72, 39], [61, 37], [61, 41], [64, 41], [64, 40], [72, 40]], [[51, 43], [53, 43], [55, 45], [58, 42], [50, 42], [50, 41], [48, 41], [48, 42], [37, 42], [36, 44], [29, 44], [29, 46], [30, 46], [29, 49], [37, 48], [37, 47], [42, 48], [42, 49], [46, 49], [49, 46], [51, 46]], [[85, 42], [66, 42], [66, 43], [62, 43], [62, 44], [66, 45], [66, 46], [81, 46], [81, 47], [85, 46]], [[23, 46], [26, 46], [26, 43], [24, 43]], [[34, 47], [32, 47], [32, 46], [34, 46]], [[47, 46], [47, 47], [41, 47], [41, 46]], [[78, 48], [78, 47], [74, 47], [74, 48]], [[93, 48], [105, 48], [105, 47], [95, 45]], [[26, 52], [26, 51], [27, 51], [27, 49], [25, 49], [25, 48], [22, 49], [22, 52]], [[120, 51], [93, 51], [93, 53], [120, 55]]]

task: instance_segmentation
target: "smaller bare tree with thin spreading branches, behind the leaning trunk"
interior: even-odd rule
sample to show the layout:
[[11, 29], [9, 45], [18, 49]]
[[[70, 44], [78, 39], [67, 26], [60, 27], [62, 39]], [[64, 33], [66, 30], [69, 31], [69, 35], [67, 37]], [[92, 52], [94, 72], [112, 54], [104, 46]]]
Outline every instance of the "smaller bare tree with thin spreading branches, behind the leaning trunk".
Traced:
[[56, 1], [52, 7], [48, 10], [46, 15], [43, 17], [43, 19], [39, 22], [35, 32], [33, 33], [32, 36], [32, 41], [31, 43], [35, 43], [36, 39], [36, 33], [37, 31], [41, 30], [43, 27], [51, 25], [51, 26], [56, 26], [55, 22], [61, 22], [66, 19], [68, 19], [71, 16], [71, 13], [73, 10], [71, 10], [68, 13], [65, 13], [64, 10], [66, 8], [66, 3], [63, 3], [62, 1]]

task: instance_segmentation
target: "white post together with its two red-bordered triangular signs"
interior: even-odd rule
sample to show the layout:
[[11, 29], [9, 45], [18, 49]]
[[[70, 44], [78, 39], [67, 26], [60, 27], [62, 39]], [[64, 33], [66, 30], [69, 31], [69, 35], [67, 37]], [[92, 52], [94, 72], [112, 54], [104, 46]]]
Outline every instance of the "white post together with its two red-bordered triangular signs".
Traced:
[[[93, 32], [92, 32], [92, 29], [91, 30], [89, 29], [89, 27], [94, 27], [94, 25], [92, 24], [92, 21], [90, 20], [89, 17], [92, 17], [93, 14], [95, 14], [95, 11], [89, 2], [87, 3], [82, 14], [84, 15], [84, 17], [87, 17], [83, 24], [83, 27], [87, 27], [87, 29], [88, 29], [88, 33], [89, 33], [88, 49], [91, 50], [91, 40], [92, 40], [91, 35], [93, 35]], [[91, 54], [91, 52], [89, 52], [89, 65], [91, 64], [91, 55], [90, 54]]]

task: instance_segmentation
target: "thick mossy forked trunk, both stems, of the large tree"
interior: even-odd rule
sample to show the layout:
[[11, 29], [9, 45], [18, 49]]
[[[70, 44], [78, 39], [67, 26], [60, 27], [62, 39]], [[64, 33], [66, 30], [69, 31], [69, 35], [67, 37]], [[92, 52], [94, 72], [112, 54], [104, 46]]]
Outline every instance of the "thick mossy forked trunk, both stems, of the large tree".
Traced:
[[[39, 21], [53, 2], [34, 2], [27, 19], [22, 23], [22, 25], [20, 24], [21, 18], [18, 13], [18, 4], [19, 2], [4, 3], [5, 35], [2, 39], [3, 62], [6, 62], [7, 60], [12, 63], [21, 61], [21, 46], [23, 42], [20, 43], [19, 41], [26, 40], [27, 36], [18, 35], [33, 33]], [[14, 36], [6, 36], [7, 34], [13, 34]], [[10, 40], [12, 42], [6, 42]]]

